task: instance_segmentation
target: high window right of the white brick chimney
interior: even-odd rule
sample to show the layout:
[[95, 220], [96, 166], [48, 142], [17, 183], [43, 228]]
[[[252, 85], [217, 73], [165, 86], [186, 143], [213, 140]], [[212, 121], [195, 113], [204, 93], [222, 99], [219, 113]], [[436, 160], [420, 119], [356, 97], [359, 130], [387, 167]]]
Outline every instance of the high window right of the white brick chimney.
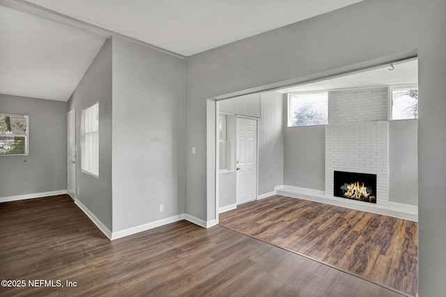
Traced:
[[418, 86], [390, 88], [392, 120], [418, 118]]

